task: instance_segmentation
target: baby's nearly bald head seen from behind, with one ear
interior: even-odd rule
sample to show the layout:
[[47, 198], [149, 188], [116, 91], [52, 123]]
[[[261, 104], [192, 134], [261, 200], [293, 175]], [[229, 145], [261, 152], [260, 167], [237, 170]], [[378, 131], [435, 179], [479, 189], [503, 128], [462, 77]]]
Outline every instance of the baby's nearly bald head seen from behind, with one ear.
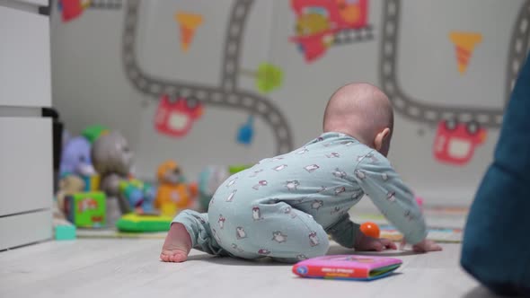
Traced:
[[331, 95], [323, 130], [353, 136], [386, 156], [393, 133], [392, 105], [374, 85], [349, 83]]

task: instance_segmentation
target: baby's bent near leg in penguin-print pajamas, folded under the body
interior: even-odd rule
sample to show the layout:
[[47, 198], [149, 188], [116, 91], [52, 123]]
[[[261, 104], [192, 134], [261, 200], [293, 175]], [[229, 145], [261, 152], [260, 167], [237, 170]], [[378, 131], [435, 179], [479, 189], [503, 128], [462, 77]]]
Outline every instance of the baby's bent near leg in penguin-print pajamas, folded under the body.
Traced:
[[296, 262], [323, 256], [329, 249], [328, 235], [313, 216], [284, 202], [249, 206], [225, 216], [222, 223], [212, 223], [212, 230], [231, 255], [243, 259]]

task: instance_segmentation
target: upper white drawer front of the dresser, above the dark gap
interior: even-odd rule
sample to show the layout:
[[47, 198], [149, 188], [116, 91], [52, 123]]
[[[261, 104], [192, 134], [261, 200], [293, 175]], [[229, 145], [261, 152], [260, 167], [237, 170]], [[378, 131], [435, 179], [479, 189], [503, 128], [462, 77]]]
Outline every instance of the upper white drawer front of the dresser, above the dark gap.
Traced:
[[0, 5], [0, 106], [51, 106], [49, 18]]

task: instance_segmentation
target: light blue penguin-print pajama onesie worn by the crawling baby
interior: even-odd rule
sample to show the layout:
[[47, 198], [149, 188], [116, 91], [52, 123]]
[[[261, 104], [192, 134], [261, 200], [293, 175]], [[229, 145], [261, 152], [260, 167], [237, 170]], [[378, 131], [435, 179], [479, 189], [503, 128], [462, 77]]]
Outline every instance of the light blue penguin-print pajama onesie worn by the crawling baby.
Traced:
[[328, 233], [352, 248], [359, 226], [348, 210], [365, 194], [406, 241], [427, 236], [411, 190], [390, 162], [340, 133], [234, 174], [216, 190], [208, 214], [186, 210], [173, 223], [183, 223], [193, 247], [211, 254], [292, 262], [324, 255]]

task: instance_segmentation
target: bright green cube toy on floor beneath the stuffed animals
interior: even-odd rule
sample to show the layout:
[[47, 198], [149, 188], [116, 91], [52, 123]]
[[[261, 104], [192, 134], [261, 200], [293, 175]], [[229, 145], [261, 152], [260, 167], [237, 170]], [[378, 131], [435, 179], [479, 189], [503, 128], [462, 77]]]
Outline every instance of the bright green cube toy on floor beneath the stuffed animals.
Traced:
[[106, 199], [107, 196], [101, 191], [80, 192], [66, 196], [65, 213], [68, 221], [77, 227], [103, 227]]

